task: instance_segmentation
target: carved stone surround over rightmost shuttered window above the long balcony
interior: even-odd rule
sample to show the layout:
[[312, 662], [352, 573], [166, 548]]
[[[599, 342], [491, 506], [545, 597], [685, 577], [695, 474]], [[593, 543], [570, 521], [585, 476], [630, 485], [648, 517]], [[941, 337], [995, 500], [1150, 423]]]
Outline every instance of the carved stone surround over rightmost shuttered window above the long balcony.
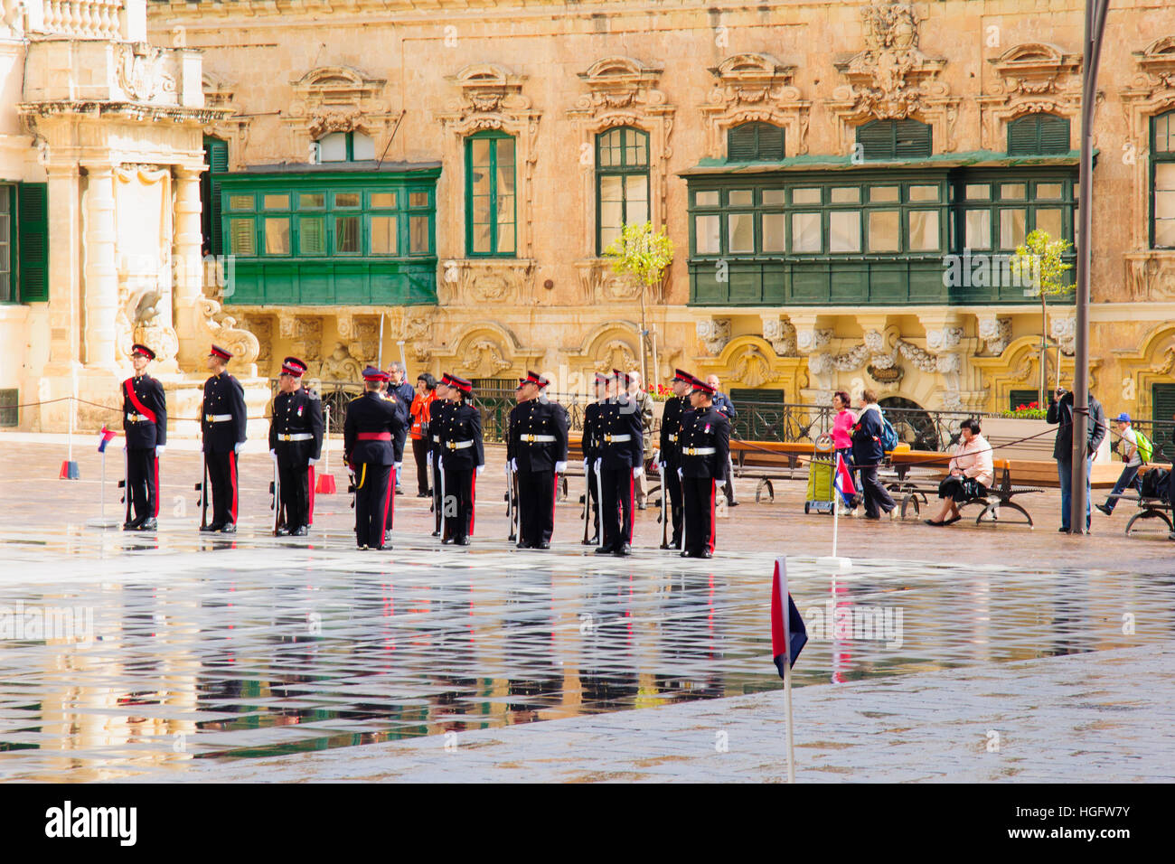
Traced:
[[976, 101], [982, 118], [982, 143], [1002, 150], [1005, 126], [1025, 114], [1074, 118], [1081, 100], [1081, 55], [1066, 54], [1047, 42], [1028, 42], [988, 58], [996, 80]]

